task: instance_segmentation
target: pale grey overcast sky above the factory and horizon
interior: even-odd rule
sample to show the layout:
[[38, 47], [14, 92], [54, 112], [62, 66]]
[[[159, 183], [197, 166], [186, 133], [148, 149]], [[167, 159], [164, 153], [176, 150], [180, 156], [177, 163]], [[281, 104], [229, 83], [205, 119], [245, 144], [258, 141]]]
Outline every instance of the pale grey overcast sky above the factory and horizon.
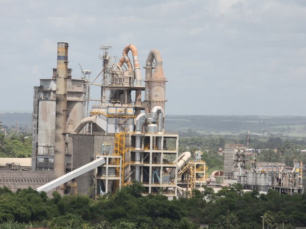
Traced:
[[159, 49], [166, 114], [306, 116], [305, 0], [0, 0], [0, 31], [2, 112], [32, 110], [68, 42], [91, 78], [99, 45], [120, 58], [134, 44], [142, 66]]

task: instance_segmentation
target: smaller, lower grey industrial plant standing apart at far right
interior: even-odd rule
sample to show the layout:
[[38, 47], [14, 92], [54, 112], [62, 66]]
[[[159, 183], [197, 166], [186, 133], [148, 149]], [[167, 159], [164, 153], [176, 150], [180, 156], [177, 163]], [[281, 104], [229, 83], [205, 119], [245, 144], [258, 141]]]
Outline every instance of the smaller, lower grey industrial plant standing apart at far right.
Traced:
[[303, 193], [303, 164], [293, 167], [284, 163], [260, 163], [257, 153], [247, 155], [242, 144], [226, 144], [224, 151], [224, 184], [239, 183], [244, 189], [266, 193], [273, 189], [279, 194]]

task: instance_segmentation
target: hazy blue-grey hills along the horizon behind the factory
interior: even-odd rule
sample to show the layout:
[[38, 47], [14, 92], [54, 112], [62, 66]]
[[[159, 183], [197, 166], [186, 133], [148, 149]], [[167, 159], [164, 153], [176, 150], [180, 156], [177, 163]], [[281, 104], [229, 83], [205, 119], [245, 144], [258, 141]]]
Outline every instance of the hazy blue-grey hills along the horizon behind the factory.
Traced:
[[[29, 127], [32, 114], [29, 112], [0, 113], [3, 128]], [[306, 137], [304, 116], [260, 116], [260, 115], [166, 115], [165, 131], [197, 131], [204, 134], [250, 134], [283, 137]]]

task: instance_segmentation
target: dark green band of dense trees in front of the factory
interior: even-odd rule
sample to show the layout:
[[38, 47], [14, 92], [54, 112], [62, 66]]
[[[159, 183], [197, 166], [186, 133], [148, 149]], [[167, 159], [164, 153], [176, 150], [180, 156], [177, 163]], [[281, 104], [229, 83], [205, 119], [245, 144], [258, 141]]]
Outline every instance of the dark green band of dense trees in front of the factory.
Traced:
[[194, 190], [191, 198], [168, 200], [162, 195], [142, 196], [139, 183], [122, 188], [114, 196], [89, 199], [60, 196], [35, 190], [11, 193], [0, 188], [0, 229], [44, 227], [54, 229], [292, 229], [306, 226], [306, 194], [279, 195], [269, 190], [243, 192], [240, 185]]

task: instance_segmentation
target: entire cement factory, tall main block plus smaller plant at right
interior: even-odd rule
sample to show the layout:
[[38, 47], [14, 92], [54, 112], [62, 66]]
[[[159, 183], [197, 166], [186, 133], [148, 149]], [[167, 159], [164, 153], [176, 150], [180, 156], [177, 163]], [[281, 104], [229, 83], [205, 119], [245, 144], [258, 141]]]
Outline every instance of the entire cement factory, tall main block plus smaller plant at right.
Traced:
[[[148, 54], [143, 79], [135, 45], [125, 46], [121, 58], [110, 56], [111, 46], [100, 49], [102, 70], [91, 82], [90, 70], [72, 77], [68, 43], [58, 43], [52, 77], [34, 87], [31, 171], [1, 170], [0, 187], [96, 197], [138, 181], [144, 195], [192, 195], [206, 184], [207, 167], [200, 153], [179, 155], [178, 134], [164, 130], [167, 79], [160, 52]], [[93, 86], [101, 88], [101, 98], [90, 98]], [[303, 193], [302, 164], [290, 170], [260, 164], [239, 144], [227, 144], [224, 158], [222, 185]], [[212, 173], [210, 185], [217, 175]]]

